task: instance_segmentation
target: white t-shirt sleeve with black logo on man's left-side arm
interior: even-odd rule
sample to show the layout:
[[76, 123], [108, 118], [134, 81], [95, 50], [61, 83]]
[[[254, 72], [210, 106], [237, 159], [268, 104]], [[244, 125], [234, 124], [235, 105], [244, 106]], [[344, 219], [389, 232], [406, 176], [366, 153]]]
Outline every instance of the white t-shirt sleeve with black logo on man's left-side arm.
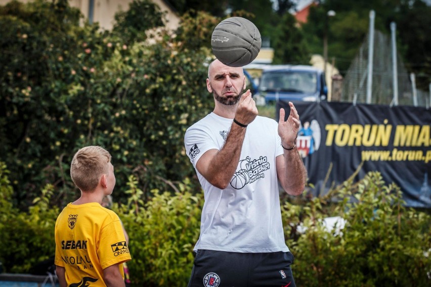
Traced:
[[220, 149], [217, 142], [215, 142], [206, 131], [197, 127], [191, 127], [186, 131], [184, 146], [186, 148], [186, 154], [195, 168], [196, 163], [205, 152], [212, 149]]

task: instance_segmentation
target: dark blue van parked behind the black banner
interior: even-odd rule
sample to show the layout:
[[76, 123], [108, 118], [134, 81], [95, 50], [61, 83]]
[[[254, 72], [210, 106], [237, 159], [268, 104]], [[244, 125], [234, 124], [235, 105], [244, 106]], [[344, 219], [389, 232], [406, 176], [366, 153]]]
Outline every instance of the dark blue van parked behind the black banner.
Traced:
[[272, 101], [326, 101], [324, 72], [313, 66], [272, 65], [262, 71], [257, 94]]

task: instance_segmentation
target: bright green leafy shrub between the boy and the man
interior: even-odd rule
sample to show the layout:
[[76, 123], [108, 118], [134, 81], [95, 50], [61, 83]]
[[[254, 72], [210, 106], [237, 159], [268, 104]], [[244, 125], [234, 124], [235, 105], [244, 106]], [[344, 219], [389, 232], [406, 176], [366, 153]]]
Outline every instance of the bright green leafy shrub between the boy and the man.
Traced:
[[136, 286], [187, 285], [192, 249], [199, 237], [202, 195], [193, 196], [186, 181], [175, 195], [152, 190], [151, 200], [142, 206], [134, 200], [142, 193], [136, 184], [130, 177], [128, 206], [118, 210], [130, 236], [132, 261], [127, 266], [132, 282]]

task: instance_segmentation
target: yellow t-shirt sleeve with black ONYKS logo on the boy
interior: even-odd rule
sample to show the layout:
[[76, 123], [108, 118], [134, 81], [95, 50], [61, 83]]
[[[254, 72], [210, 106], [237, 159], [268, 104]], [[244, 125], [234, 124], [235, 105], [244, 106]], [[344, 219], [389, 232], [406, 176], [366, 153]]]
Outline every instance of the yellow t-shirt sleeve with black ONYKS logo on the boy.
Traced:
[[132, 259], [117, 215], [101, 229], [97, 255], [102, 269]]

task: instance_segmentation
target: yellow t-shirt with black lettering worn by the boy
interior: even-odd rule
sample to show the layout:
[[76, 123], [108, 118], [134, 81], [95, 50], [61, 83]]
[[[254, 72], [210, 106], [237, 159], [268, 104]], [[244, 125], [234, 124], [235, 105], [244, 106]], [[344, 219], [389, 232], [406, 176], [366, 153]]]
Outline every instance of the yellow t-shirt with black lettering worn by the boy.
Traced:
[[55, 264], [66, 271], [67, 285], [106, 286], [103, 269], [131, 260], [121, 221], [99, 203], [69, 203], [55, 224]]

